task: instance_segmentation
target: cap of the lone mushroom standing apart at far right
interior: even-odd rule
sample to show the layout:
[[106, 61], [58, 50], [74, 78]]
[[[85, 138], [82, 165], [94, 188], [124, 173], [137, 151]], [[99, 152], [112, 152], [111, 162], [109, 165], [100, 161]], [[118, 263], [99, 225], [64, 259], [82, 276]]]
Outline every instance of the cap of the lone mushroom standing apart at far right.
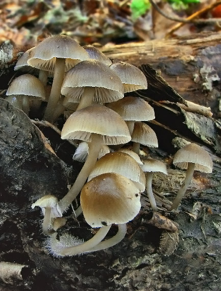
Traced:
[[203, 173], [212, 173], [212, 159], [207, 151], [195, 143], [189, 143], [177, 151], [173, 163], [186, 169], [188, 163], [194, 163], [194, 169]]

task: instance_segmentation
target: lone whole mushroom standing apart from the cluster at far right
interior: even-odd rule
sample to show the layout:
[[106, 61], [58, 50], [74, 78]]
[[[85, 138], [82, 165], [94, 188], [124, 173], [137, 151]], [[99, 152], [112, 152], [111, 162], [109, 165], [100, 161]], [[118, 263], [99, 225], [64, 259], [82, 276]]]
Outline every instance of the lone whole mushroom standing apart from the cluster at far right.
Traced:
[[182, 198], [191, 182], [193, 172], [200, 171], [203, 173], [212, 173], [212, 159], [207, 151], [195, 143], [189, 143], [185, 147], [177, 151], [174, 156], [173, 163], [180, 167], [187, 169], [186, 177], [181, 185], [180, 190], [170, 208], [170, 210], [177, 209], [181, 203]]

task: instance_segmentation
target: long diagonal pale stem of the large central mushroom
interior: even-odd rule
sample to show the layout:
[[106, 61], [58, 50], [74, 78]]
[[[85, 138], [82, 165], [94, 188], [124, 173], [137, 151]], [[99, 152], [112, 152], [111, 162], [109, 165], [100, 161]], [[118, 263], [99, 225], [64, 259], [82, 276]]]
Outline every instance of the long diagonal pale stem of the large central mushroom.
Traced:
[[79, 173], [75, 183], [67, 192], [67, 194], [60, 200], [59, 204], [61, 207], [61, 211], [64, 212], [70, 205], [70, 203], [76, 199], [78, 194], [80, 193], [84, 183], [86, 182], [92, 168], [95, 165], [101, 147], [103, 145], [103, 139], [100, 134], [91, 134], [91, 142], [88, 142], [89, 153], [87, 156], [87, 160], [83, 165], [81, 172]]

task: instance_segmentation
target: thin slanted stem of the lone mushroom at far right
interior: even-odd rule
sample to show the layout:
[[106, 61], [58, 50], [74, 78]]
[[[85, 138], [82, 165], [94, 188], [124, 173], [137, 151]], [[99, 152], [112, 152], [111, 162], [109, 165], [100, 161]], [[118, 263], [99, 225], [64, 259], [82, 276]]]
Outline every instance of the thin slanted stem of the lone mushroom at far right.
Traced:
[[185, 192], [191, 182], [193, 172], [194, 172], [195, 164], [194, 163], [188, 163], [187, 171], [186, 171], [186, 177], [183, 181], [182, 186], [180, 187], [180, 190], [177, 193], [177, 196], [170, 208], [170, 210], [177, 209], [180, 205], [181, 200], [183, 199]]

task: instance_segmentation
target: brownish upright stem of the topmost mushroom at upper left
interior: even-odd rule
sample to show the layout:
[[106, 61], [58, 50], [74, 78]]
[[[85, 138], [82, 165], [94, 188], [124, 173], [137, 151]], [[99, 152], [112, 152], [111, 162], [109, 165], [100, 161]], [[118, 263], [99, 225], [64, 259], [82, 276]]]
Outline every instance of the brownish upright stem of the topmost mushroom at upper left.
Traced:
[[54, 80], [51, 93], [48, 99], [47, 107], [44, 113], [44, 119], [48, 122], [53, 122], [54, 110], [59, 101], [61, 94], [61, 86], [64, 79], [65, 59], [56, 58]]

